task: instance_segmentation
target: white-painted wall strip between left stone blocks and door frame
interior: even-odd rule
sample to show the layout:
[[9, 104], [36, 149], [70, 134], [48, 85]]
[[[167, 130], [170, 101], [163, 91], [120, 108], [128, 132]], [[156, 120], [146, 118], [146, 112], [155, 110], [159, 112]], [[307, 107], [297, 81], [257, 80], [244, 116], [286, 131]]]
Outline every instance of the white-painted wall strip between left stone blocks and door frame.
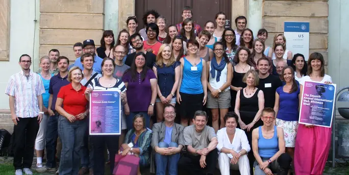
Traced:
[[105, 0], [104, 3], [104, 30], [113, 30], [114, 37], [116, 38], [119, 32], [119, 2], [118, 0]]

